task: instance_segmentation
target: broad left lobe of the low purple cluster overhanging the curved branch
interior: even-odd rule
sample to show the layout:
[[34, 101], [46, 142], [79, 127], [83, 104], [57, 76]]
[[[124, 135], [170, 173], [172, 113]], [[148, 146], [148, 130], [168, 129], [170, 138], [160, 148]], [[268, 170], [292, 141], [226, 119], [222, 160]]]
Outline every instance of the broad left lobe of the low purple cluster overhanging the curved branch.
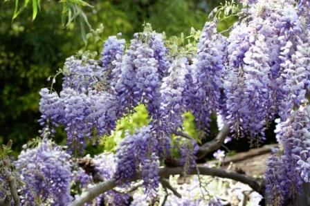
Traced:
[[156, 153], [158, 141], [154, 136], [151, 126], [141, 127], [132, 135], [126, 133], [116, 152], [115, 177], [118, 182], [127, 183], [136, 177], [140, 166]]

